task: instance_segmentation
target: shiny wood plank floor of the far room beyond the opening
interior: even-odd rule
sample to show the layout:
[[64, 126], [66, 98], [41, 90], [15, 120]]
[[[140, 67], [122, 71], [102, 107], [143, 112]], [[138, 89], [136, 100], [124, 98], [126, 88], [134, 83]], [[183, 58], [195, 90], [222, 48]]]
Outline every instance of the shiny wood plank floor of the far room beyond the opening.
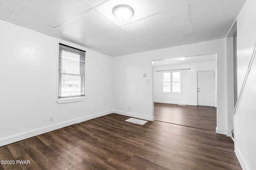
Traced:
[[156, 121], [216, 131], [216, 107], [154, 103]]

